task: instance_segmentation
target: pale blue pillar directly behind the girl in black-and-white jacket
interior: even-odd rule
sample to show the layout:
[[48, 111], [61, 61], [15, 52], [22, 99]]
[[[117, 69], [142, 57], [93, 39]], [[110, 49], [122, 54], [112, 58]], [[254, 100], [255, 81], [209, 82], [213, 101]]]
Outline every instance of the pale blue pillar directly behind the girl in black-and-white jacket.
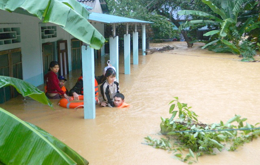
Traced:
[[116, 68], [116, 79], [119, 82], [118, 36], [109, 38], [110, 64]]

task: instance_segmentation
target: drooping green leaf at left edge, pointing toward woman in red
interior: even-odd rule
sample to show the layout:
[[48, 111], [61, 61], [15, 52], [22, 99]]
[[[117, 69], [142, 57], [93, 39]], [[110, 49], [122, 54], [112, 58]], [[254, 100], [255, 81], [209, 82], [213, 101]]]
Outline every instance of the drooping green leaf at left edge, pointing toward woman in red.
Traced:
[[7, 76], [0, 76], [0, 88], [13, 86], [17, 92], [22, 94], [22, 96], [29, 96], [40, 103], [47, 104], [53, 107], [53, 103], [49, 101], [49, 99], [45, 96], [45, 93], [40, 91], [38, 88], [29, 84], [28, 82]]

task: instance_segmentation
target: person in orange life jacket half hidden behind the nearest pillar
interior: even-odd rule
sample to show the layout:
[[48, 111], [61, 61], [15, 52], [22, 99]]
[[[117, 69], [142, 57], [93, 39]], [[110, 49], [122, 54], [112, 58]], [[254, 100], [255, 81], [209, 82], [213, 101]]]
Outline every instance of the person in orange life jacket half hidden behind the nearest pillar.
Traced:
[[[103, 75], [101, 76], [95, 76], [95, 100], [96, 100], [96, 104], [99, 103], [98, 100], [98, 85], [102, 84], [103, 82]], [[74, 100], [79, 100], [79, 96], [83, 95], [84, 91], [83, 91], [83, 76], [81, 74], [81, 76], [77, 79], [76, 84], [74, 85], [74, 87], [69, 91], [69, 96], [73, 96]]]

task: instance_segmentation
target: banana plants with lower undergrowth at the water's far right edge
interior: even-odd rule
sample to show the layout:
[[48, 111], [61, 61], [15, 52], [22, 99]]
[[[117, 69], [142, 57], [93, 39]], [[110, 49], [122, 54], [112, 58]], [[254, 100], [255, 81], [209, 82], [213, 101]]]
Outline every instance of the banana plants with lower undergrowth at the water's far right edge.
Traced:
[[[179, 30], [190, 26], [207, 25], [212, 31], [204, 36], [211, 36], [209, 43], [202, 48], [209, 48], [216, 52], [232, 52], [243, 56], [242, 61], [254, 61], [256, 47], [242, 38], [243, 34], [252, 30], [259, 30], [258, 15], [253, 11], [257, 9], [258, 2], [251, 0], [218, 0], [220, 5], [213, 4], [209, 0], [201, 0], [215, 13], [202, 11], [183, 10], [179, 15], [193, 15], [207, 18], [187, 21], [181, 24]], [[258, 33], [259, 37], [259, 33]]]

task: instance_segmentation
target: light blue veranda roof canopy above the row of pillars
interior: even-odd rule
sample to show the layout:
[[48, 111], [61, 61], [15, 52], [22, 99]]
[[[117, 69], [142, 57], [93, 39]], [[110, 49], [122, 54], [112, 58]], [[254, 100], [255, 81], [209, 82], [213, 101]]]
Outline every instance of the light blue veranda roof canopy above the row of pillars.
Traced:
[[109, 14], [94, 13], [94, 12], [91, 12], [89, 14], [89, 21], [103, 22], [103, 23], [153, 23], [149, 21], [119, 17], [119, 16], [109, 15]]

